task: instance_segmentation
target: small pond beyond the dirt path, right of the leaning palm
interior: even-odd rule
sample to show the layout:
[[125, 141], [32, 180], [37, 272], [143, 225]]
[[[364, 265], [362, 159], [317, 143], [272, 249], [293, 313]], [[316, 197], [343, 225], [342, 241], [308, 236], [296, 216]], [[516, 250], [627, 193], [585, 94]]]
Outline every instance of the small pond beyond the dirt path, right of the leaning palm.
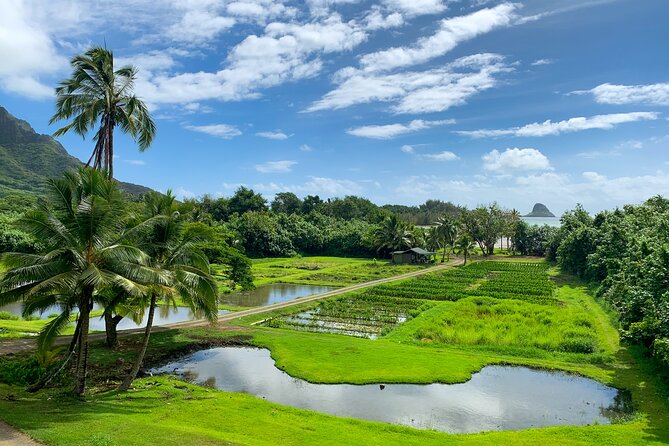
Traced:
[[222, 297], [223, 303], [237, 305], [240, 307], [261, 307], [298, 297], [311, 296], [312, 294], [325, 293], [336, 287], [320, 285], [296, 285], [292, 283], [273, 283], [271, 285], [259, 286], [255, 290], [243, 293], [227, 294]]

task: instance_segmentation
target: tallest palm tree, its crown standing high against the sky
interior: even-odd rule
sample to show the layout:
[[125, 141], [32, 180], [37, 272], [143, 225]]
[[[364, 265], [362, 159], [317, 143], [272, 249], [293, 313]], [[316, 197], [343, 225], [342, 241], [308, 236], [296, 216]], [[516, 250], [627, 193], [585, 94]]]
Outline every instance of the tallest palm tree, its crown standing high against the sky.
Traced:
[[107, 171], [114, 176], [114, 129], [120, 127], [143, 152], [153, 141], [156, 125], [149, 111], [133, 89], [137, 69], [127, 65], [114, 70], [114, 55], [106, 48], [93, 47], [70, 61], [72, 76], [56, 88], [56, 113], [49, 121], [72, 119], [54, 136], [70, 130], [85, 137], [98, 122], [95, 148], [86, 166]]

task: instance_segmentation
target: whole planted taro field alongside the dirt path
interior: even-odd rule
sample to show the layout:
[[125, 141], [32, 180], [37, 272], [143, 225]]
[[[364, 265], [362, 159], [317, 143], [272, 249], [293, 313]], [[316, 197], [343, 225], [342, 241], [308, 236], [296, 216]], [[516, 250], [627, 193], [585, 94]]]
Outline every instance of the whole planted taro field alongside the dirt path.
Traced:
[[487, 297], [555, 304], [555, 285], [547, 270], [545, 263], [471, 263], [321, 301], [311, 309], [277, 316], [264, 324], [375, 339], [418, 317], [438, 301]]

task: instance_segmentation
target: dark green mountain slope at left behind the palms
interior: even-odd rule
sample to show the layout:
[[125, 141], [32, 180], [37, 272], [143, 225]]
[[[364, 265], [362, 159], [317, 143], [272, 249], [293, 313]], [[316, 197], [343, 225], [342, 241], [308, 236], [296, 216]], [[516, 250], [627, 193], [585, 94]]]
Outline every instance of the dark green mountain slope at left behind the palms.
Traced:
[[[49, 135], [40, 135], [0, 106], [0, 195], [14, 191], [41, 192], [46, 180], [76, 169], [82, 162]], [[119, 182], [134, 195], [148, 187]]]

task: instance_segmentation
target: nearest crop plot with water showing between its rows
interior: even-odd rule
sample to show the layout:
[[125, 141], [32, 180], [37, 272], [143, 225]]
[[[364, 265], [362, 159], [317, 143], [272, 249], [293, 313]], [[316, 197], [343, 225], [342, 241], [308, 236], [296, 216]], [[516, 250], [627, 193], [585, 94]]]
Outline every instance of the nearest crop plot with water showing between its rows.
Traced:
[[417, 299], [350, 293], [307, 311], [269, 319], [265, 325], [376, 339], [432, 305]]

